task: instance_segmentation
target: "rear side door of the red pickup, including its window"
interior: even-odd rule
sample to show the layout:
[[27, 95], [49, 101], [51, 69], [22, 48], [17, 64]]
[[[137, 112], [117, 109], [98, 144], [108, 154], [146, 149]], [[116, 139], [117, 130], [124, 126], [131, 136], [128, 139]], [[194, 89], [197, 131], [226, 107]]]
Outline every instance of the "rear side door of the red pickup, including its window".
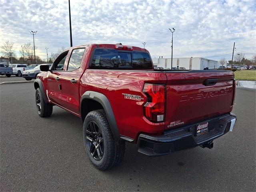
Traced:
[[76, 115], [80, 114], [79, 78], [85, 48], [72, 50], [67, 69], [62, 73], [62, 106]]

